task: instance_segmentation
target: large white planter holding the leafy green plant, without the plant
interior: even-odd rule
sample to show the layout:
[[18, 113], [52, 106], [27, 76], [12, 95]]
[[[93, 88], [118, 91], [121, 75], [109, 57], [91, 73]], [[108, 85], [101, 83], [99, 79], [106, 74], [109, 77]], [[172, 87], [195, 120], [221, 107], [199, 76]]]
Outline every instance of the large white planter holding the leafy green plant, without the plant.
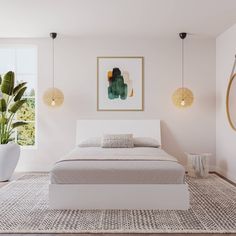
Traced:
[[14, 142], [0, 144], [0, 181], [11, 178], [20, 156], [20, 146]]

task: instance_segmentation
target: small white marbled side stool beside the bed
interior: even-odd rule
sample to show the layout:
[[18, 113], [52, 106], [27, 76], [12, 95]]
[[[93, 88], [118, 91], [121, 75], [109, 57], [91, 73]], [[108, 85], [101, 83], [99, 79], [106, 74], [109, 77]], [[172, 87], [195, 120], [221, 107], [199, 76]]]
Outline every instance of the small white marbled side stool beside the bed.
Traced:
[[211, 153], [186, 153], [188, 156], [188, 175], [195, 178], [207, 178]]

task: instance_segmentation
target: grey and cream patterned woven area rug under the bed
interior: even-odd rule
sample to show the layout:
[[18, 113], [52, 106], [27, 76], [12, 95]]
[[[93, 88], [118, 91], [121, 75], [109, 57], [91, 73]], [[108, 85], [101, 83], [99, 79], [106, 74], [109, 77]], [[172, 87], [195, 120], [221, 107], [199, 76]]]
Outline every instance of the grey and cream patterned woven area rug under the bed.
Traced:
[[62, 211], [48, 208], [48, 175], [25, 175], [0, 189], [0, 233], [236, 233], [236, 187], [217, 175], [187, 182], [188, 211]]

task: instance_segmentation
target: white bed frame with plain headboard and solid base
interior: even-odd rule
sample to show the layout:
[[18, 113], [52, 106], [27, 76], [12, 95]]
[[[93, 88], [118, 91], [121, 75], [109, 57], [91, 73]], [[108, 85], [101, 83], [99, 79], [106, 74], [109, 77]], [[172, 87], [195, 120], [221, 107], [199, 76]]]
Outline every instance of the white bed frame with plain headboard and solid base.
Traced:
[[[133, 133], [161, 144], [160, 120], [78, 120], [76, 144], [104, 133]], [[189, 208], [187, 184], [50, 184], [52, 209]]]

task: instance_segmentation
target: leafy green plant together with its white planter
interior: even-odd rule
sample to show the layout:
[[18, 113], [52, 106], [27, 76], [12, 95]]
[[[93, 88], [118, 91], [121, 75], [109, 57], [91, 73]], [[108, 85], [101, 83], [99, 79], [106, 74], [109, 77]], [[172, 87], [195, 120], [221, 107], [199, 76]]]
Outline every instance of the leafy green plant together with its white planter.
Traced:
[[20, 156], [20, 146], [14, 142], [14, 129], [26, 125], [26, 122], [15, 121], [15, 115], [27, 101], [22, 99], [26, 83], [15, 86], [14, 72], [0, 76], [0, 181], [11, 178]]

